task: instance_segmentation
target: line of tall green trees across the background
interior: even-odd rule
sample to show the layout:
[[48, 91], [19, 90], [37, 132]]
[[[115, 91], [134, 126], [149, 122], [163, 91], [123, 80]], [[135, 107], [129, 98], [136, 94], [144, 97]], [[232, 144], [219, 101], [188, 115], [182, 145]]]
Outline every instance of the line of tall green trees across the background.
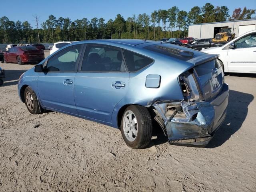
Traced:
[[226, 6], [214, 7], [206, 3], [201, 8], [195, 6], [189, 12], [173, 6], [168, 10], [154, 10], [150, 15], [133, 14], [126, 20], [117, 14], [114, 20], [87, 18], [70, 20], [50, 15], [40, 23], [39, 16], [33, 16], [36, 28], [28, 21], [14, 22], [6, 16], [0, 18], [0, 43], [57, 42], [61, 40], [80, 41], [91, 39], [133, 38], [159, 40], [160, 38], [180, 38], [188, 35], [189, 24], [222, 22], [227, 20], [251, 19], [254, 9], [236, 8], [232, 16]]

